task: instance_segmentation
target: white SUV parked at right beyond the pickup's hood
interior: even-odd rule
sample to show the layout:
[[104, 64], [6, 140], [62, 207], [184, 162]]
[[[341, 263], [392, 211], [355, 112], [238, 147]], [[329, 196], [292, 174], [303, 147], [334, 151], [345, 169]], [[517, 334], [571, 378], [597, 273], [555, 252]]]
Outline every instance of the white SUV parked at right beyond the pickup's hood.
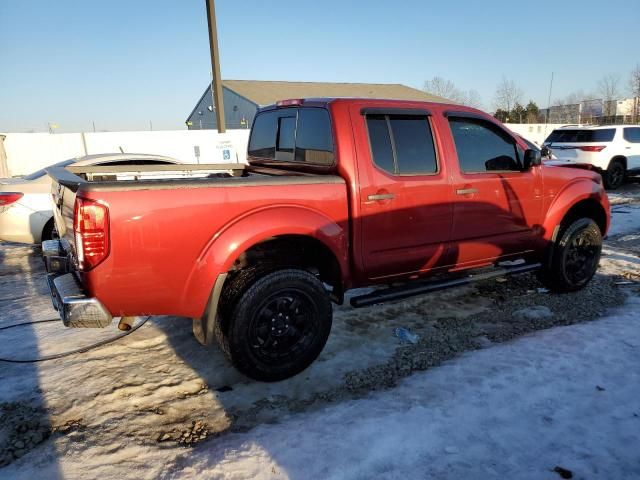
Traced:
[[566, 126], [551, 132], [544, 146], [558, 160], [591, 165], [611, 190], [640, 173], [640, 126]]

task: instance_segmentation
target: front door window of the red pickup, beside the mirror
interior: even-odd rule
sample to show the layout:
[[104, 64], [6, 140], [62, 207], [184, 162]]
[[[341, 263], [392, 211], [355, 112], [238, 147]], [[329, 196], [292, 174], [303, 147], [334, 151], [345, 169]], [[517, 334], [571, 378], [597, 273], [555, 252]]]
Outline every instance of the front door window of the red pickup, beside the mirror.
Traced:
[[460, 169], [465, 173], [521, 171], [515, 141], [490, 122], [450, 117]]

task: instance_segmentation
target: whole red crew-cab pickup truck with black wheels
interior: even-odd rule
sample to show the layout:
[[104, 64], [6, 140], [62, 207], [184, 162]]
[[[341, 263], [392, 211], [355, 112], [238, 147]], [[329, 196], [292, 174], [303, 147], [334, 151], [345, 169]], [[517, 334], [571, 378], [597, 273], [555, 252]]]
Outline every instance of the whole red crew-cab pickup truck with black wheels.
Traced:
[[264, 381], [315, 360], [355, 287], [376, 287], [355, 307], [531, 270], [580, 289], [610, 220], [599, 175], [545, 166], [493, 117], [439, 103], [287, 100], [258, 112], [246, 166], [48, 172], [59, 240], [43, 254], [65, 325], [190, 317]]

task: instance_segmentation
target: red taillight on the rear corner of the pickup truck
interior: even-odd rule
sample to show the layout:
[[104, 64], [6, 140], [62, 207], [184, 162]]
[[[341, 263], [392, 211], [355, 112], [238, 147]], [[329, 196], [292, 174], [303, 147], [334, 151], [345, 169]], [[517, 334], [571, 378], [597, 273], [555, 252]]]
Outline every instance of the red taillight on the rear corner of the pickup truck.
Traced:
[[91, 270], [109, 255], [109, 209], [106, 205], [76, 198], [73, 208], [78, 268]]

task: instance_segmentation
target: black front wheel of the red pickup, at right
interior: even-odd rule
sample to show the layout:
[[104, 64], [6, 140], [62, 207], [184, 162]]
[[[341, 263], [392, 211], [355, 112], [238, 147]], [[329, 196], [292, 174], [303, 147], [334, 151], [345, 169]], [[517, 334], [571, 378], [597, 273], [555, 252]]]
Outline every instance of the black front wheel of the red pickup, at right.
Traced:
[[598, 269], [602, 233], [590, 218], [567, 222], [560, 229], [550, 264], [540, 280], [555, 292], [574, 292], [584, 288]]

